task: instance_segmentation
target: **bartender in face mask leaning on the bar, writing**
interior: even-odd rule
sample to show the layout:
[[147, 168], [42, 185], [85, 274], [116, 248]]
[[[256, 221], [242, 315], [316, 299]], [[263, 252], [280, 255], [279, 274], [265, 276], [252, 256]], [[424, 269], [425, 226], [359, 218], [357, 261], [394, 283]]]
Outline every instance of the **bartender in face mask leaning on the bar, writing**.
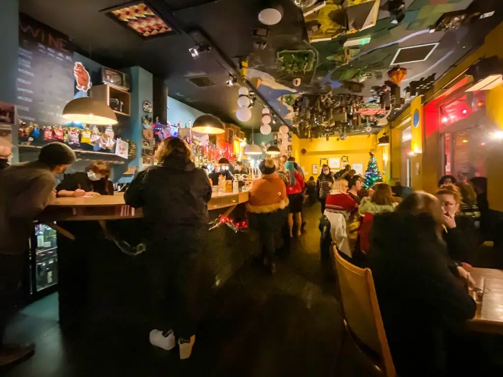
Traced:
[[114, 184], [109, 180], [111, 168], [106, 161], [93, 161], [85, 172], [67, 174], [56, 187], [57, 196], [88, 197], [114, 195]]

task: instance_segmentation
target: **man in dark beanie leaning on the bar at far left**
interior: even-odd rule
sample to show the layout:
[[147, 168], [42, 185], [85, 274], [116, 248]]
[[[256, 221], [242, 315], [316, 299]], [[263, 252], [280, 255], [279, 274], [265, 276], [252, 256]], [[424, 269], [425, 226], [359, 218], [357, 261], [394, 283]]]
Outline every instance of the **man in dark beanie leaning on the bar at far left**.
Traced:
[[37, 161], [0, 171], [0, 367], [33, 354], [35, 346], [3, 343], [15, 314], [33, 220], [56, 197], [56, 176], [76, 160], [65, 144], [51, 143]]

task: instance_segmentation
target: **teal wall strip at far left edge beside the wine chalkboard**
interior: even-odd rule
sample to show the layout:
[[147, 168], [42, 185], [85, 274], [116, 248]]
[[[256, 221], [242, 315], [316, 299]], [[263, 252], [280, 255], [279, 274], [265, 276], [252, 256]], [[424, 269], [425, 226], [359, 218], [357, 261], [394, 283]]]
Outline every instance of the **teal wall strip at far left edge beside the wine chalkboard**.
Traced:
[[[19, 3], [0, 0], [0, 102], [15, 104], [18, 77]], [[13, 130], [13, 144], [18, 144], [17, 130]], [[18, 149], [13, 150], [13, 163], [19, 162]]]

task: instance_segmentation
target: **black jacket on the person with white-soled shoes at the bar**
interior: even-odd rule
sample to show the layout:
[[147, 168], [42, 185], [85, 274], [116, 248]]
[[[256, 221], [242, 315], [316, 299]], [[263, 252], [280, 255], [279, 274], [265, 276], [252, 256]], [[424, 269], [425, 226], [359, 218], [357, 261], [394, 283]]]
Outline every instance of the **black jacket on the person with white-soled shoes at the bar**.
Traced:
[[207, 228], [210, 199], [204, 170], [176, 155], [139, 172], [124, 196], [126, 204], [143, 208], [145, 225], [154, 238], [180, 227]]

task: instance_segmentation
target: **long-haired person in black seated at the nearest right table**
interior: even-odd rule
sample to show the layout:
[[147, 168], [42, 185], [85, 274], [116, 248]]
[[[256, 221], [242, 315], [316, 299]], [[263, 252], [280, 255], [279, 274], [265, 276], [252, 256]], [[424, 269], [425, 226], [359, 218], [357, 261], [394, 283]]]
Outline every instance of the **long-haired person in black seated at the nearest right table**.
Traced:
[[369, 266], [400, 376], [446, 375], [445, 335], [476, 312], [450, 269], [441, 221], [438, 200], [426, 193], [374, 218]]

